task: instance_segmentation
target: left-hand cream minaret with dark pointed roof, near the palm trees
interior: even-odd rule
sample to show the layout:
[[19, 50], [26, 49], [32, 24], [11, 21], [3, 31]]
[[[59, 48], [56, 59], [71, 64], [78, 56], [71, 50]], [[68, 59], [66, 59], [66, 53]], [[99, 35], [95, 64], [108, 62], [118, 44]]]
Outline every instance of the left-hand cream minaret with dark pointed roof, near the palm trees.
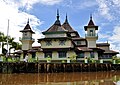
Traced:
[[25, 28], [20, 32], [22, 32], [22, 38], [20, 39], [20, 41], [22, 42], [22, 50], [27, 51], [32, 48], [32, 44], [34, 42], [32, 34], [35, 34], [29, 25], [29, 19]]

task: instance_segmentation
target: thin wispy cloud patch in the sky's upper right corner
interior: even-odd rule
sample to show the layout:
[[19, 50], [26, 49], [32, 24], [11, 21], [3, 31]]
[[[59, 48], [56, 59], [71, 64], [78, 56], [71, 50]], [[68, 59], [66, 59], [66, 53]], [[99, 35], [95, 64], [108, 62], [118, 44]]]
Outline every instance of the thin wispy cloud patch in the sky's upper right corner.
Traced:
[[98, 14], [109, 21], [120, 21], [120, 0], [96, 0]]

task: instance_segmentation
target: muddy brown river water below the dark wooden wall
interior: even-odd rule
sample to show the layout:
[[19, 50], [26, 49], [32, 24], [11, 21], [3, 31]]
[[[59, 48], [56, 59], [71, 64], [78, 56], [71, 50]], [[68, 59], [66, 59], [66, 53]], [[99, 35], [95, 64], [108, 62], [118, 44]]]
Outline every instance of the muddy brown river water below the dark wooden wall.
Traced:
[[119, 80], [120, 72], [118, 71], [0, 74], [0, 85], [114, 85]]

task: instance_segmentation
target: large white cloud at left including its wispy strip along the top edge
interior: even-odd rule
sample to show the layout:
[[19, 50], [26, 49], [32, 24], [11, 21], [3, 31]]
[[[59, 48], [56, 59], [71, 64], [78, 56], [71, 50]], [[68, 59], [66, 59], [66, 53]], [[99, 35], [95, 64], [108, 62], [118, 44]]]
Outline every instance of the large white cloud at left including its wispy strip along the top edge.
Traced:
[[62, 0], [1, 0], [0, 1], [0, 31], [7, 34], [8, 19], [9, 19], [9, 35], [15, 38], [15, 41], [19, 41], [19, 37], [22, 33], [19, 31], [24, 29], [28, 18], [30, 19], [30, 26], [36, 33], [33, 35], [35, 43], [33, 45], [39, 45], [37, 39], [43, 37], [41, 31], [38, 30], [43, 22], [41, 22], [36, 16], [31, 15], [26, 10], [30, 10], [33, 5], [39, 3], [44, 5], [54, 5], [60, 3]]

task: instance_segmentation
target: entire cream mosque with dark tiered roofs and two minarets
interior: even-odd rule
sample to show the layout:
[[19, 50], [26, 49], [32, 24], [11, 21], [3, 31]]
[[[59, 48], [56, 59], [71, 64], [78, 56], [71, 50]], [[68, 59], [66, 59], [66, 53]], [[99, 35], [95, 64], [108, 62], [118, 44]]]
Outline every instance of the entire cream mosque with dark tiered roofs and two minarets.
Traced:
[[75, 60], [82, 62], [85, 59], [109, 61], [118, 54], [110, 49], [110, 44], [97, 43], [98, 26], [94, 24], [92, 16], [86, 26], [84, 26], [85, 37], [81, 37], [76, 30], [71, 27], [66, 19], [61, 24], [59, 12], [57, 11], [56, 21], [51, 27], [42, 34], [44, 38], [38, 39], [40, 46], [32, 47], [34, 39], [32, 35], [35, 32], [31, 29], [29, 21], [23, 30], [20, 41], [22, 42], [22, 51], [16, 52], [23, 60], [28, 56], [28, 60], [37, 59], [40, 62], [71, 62]]

